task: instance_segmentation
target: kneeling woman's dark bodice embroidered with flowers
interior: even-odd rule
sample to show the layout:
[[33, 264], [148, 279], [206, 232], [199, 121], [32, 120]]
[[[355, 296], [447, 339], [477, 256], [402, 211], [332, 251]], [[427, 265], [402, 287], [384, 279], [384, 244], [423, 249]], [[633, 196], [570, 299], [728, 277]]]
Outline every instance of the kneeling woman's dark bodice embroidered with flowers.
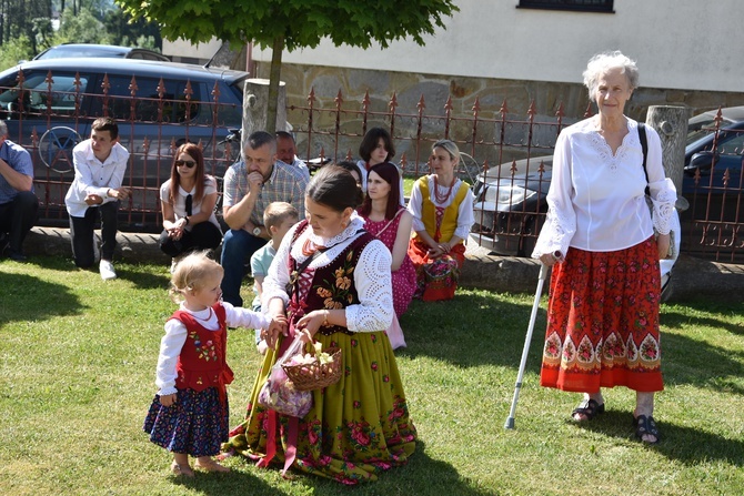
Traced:
[[[302, 221], [298, 226], [292, 243], [308, 229], [308, 221]], [[359, 257], [364, 247], [374, 241], [374, 236], [364, 232], [361, 236], [352, 241], [333, 261], [324, 267], [319, 267], [313, 274], [310, 290], [300, 300], [300, 291], [294, 291], [289, 304], [290, 326], [305, 313], [313, 310], [334, 310], [345, 308], [349, 305], [359, 304], [359, 295], [354, 285], [354, 269], [359, 263]], [[298, 267], [298, 263], [292, 256], [289, 257], [290, 274]], [[298, 284], [308, 284], [302, 275], [299, 276]], [[334, 333], [354, 334], [346, 327], [340, 325], [321, 326], [319, 333], [330, 336]]]

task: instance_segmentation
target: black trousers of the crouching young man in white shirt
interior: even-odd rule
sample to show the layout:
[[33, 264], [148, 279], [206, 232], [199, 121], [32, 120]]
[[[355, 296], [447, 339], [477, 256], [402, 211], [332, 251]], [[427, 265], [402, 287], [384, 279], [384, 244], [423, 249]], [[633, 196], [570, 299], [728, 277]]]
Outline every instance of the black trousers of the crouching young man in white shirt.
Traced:
[[113, 260], [117, 247], [117, 214], [119, 201], [89, 206], [84, 217], [70, 215], [70, 237], [72, 237], [72, 256], [74, 264], [87, 269], [95, 263], [93, 249], [93, 230], [99, 215], [101, 219], [101, 260]]

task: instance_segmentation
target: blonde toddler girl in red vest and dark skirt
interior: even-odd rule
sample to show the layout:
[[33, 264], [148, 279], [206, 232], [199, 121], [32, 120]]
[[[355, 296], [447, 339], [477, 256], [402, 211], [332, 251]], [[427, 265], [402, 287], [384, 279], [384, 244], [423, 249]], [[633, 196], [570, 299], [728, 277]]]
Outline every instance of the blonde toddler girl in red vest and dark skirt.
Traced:
[[173, 453], [171, 472], [193, 477], [194, 466], [228, 472], [212, 459], [228, 441], [232, 371], [225, 362], [228, 326], [284, 328], [262, 314], [220, 301], [223, 270], [205, 253], [185, 256], [173, 271], [171, 297], [180, 308], [165, 323], [160, 343], [158, 394], [144, 419], [150, 441]]

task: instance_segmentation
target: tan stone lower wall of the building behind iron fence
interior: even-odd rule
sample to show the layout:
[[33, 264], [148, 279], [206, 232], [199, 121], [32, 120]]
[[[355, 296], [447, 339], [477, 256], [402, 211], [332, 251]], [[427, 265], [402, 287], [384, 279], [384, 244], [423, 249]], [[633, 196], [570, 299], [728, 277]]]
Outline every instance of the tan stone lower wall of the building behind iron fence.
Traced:
[[[269, 63], [258, 62], [254, 74], [268, 78]], [[300, 155], [303, 158], [318, 156], [321, 149], [325, 156], [338, 160], [348, 153], [358, 158], [364, 129], [362, 101], [366, 92], [370, 99], [366, 129], [374, 125], [390, 129], [390, 101], [394, 94], [396, 160], [405, 154], [406, 161], [419, 163], [425, 163], [429, 143], [448, 132], [444, 115], [450, 97], [451, 115], [456, 119], [449, 122], [449, 136], [464, 145], [461, 149], [476, 156], [481, 163], [487, 160], [491, 165], [522, 159], [527, 153], [531, 156], [551, 153], [559, 131], [555, 114], [560, 105], [563, 104], [563, 124], [583, 119], [589, 107], [586, 89], [579, 83], [460, 78], [290, 63], [282, 67], [282, 81], [286, 83], [288, 105], [306, 108], [308, 95], [312, 90], [314, 108], [321, 109], [321, 112], [313, 113], [314, 134], [311, 143], [306, 139], [308, 112], [289, 112], [288, 119], [295, 129]], [[330, 111], [336, 108], [339, 94], [343, 103], [336, 133], [336, 114]], [[426, 118], [419, 130], [418, 113], [422, 98]], [[480, 110], [476, 138], [473, 140], [473, 107], [476, 101]], [[504, 102], [510, 122], [502, 126], [497, 121], [502, 119]], [[527, 119], [532, 103], [533, 119], [537, 124], [531, 129], [533, 135], [530, 141]], [[687, 107], [692, 117], [717, 107], [744, 105], [744, 93], [641, 87], [634, 92], [625, 111], [633, 119], [645, 120], [649, 105], [665, 104]], [[595, 112], [594, 107], [591, 112]], [[421, 140], [416, 140], [419, 134]], [[477, 144], [473, 145], [473, 142]]]

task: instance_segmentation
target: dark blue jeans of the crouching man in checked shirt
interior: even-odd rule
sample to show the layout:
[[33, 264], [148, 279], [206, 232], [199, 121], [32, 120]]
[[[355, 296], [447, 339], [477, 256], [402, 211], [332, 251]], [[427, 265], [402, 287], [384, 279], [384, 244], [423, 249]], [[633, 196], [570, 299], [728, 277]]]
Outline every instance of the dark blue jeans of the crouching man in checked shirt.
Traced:
[[245, 275], [245, 262], [250, 262], [251, 255], [264, 244], [267, 244], [267, 240], [257, 237], [243, 229], [231, 229], [224, 233], [222, 260], [220, 261], [224, 269], [222, 300], [233, 306], [243, 306], [243, 298], [240, 297], [240, 285]]

